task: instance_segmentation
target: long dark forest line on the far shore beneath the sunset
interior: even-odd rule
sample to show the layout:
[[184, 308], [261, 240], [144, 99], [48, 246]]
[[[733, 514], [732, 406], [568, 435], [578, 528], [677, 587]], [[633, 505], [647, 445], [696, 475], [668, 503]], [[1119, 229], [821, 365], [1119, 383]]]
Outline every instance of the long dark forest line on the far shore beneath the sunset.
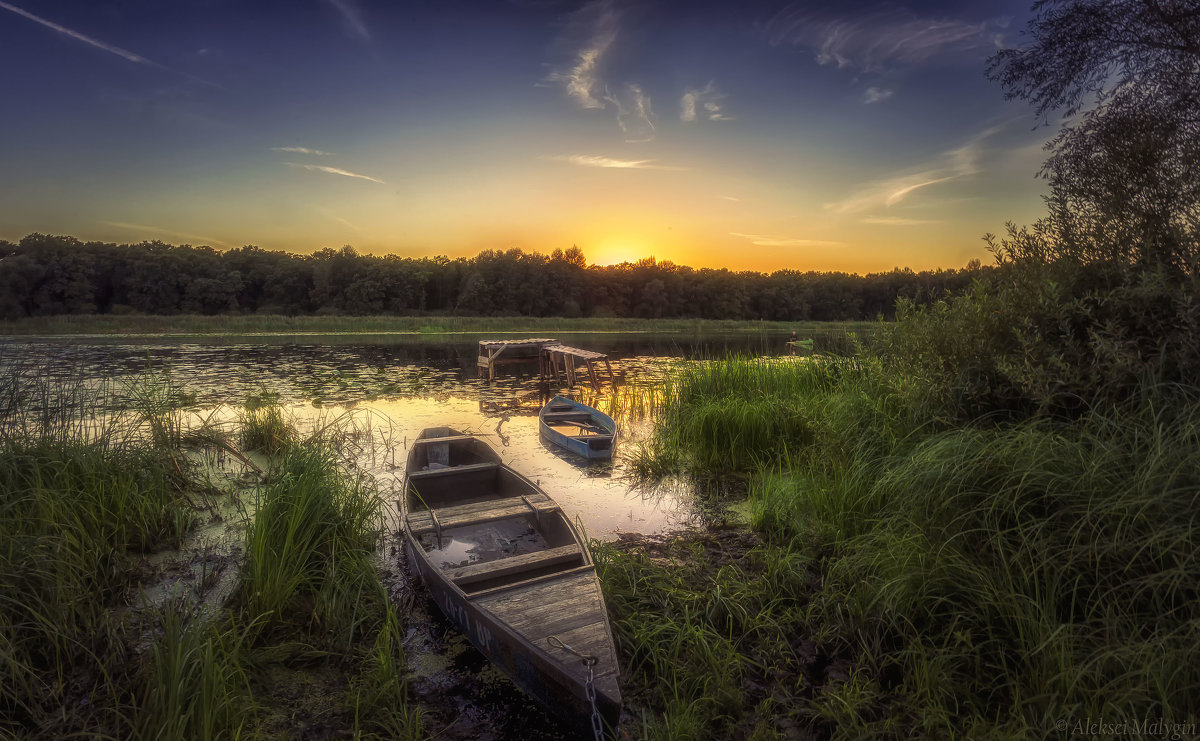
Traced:
[[254, 246], [220, 252], [163, 242], [115, 245], [31, 234], [0, 241], [0, 317], [50, 314], [420, 314], [853, 320], [892, 317], [986, 270], [770, 275], [695, 270], [653, 258], [588, 266], [488, 249], [474, 258], [374, 257], [353, 247], [300, 255]]

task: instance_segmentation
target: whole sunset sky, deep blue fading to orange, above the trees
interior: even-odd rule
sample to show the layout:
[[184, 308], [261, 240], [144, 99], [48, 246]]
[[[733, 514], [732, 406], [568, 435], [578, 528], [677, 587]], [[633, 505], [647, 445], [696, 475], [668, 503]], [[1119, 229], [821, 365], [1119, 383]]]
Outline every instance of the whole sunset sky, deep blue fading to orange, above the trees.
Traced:
[[1031, 223], [1027, 0], [0, 0], [0, 239], [875, 272]]

